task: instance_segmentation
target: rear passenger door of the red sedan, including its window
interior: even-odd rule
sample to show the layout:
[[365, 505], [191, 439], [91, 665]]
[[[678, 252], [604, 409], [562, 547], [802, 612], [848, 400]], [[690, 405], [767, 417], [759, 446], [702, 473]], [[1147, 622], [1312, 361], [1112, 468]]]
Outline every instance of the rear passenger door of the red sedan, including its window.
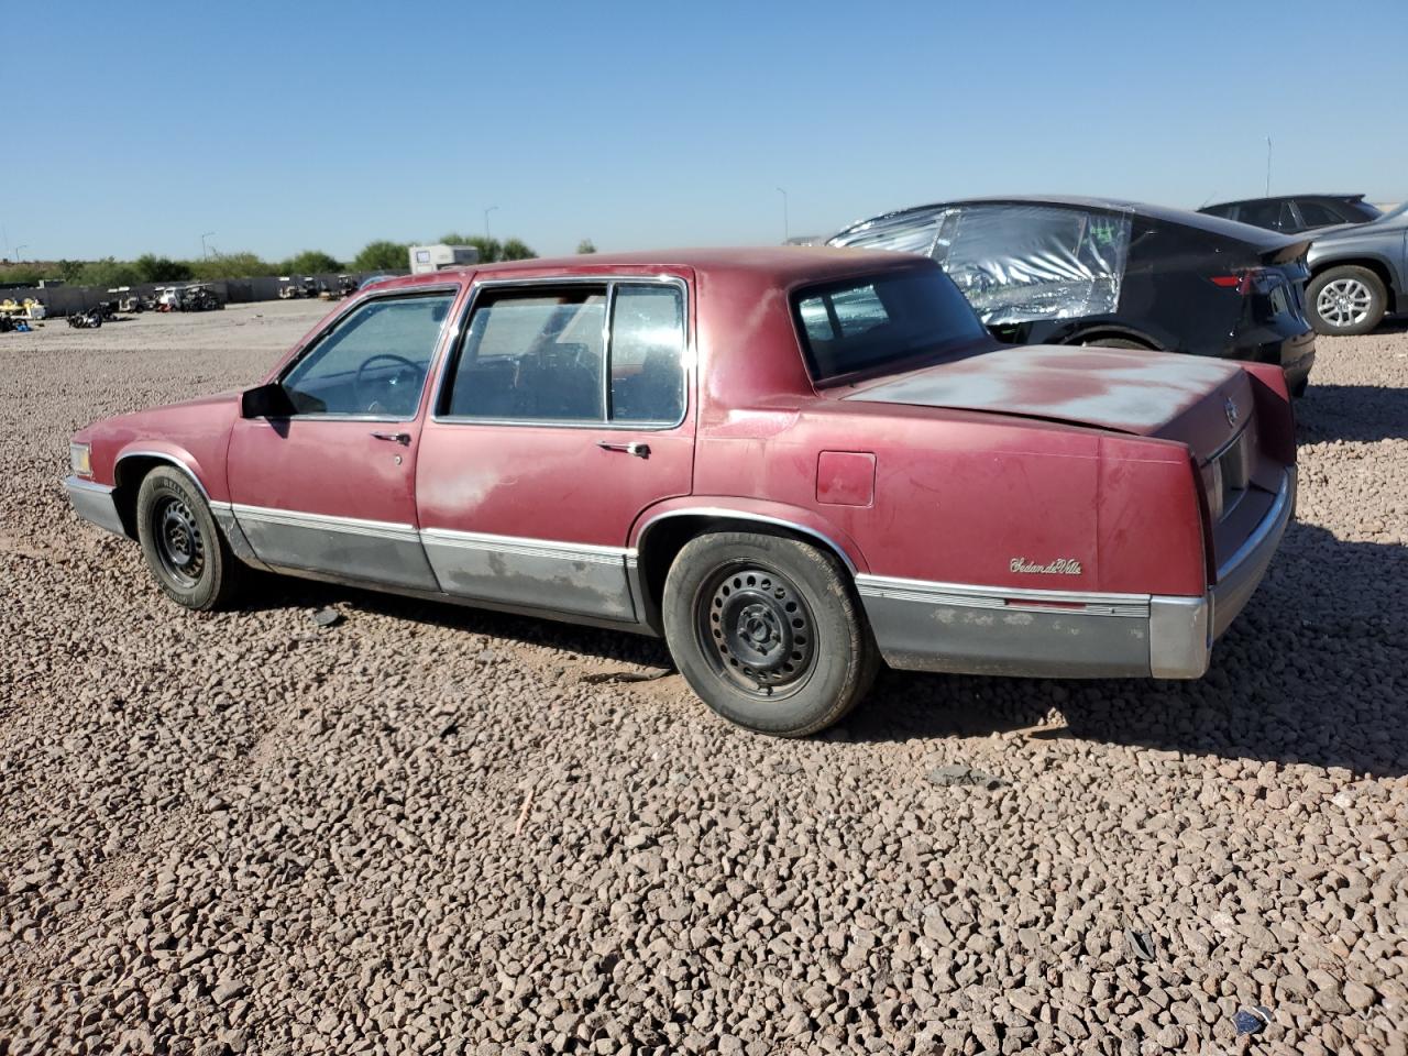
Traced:
[[686, 293], [646, 279], [479, 287], [417, 463], [442, 590], [639, 618], [631, 525], [693, 479]]

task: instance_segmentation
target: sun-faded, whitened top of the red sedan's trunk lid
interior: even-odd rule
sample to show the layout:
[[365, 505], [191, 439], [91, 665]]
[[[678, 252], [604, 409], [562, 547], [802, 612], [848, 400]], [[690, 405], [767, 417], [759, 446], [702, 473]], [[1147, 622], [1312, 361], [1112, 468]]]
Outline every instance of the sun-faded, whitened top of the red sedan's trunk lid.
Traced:
[[1236, 363], [1140, 349], [1018, 345], [887, 377], [848, 400], [988, 411], [1187, 444], [1200, 458], [1252, 413]]

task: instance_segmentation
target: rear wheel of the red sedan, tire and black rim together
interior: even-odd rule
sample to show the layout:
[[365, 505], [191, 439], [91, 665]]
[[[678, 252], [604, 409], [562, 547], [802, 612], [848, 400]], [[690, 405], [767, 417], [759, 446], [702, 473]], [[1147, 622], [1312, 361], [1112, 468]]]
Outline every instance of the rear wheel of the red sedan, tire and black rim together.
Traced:
[[880, 663], [846, 569], [790, 538], [690, 539], [665, 580], [663, 617], [690, 687], [759, 734], [825, 729], [866, 694]]

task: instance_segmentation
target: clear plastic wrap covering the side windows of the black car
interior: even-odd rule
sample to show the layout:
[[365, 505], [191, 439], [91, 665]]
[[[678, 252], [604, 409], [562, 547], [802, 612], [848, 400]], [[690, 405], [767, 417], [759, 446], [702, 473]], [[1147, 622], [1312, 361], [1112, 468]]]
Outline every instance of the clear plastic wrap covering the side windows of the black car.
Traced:
[[879, 217], [832, 245], [925, 252], [986, 325], [1112, 314], [1129, 213], [973, 204]]

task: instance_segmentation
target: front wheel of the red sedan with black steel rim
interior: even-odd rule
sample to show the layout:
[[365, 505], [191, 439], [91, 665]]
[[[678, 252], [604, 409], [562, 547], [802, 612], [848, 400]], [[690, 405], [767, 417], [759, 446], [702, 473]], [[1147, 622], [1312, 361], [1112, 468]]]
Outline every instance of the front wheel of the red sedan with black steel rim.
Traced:
[[158, 586], [203, 612], [228, 608], [244, 565], [230, 552], [200, 489], [170, 466], [158, 466], [137, 491], [137, 538]]

